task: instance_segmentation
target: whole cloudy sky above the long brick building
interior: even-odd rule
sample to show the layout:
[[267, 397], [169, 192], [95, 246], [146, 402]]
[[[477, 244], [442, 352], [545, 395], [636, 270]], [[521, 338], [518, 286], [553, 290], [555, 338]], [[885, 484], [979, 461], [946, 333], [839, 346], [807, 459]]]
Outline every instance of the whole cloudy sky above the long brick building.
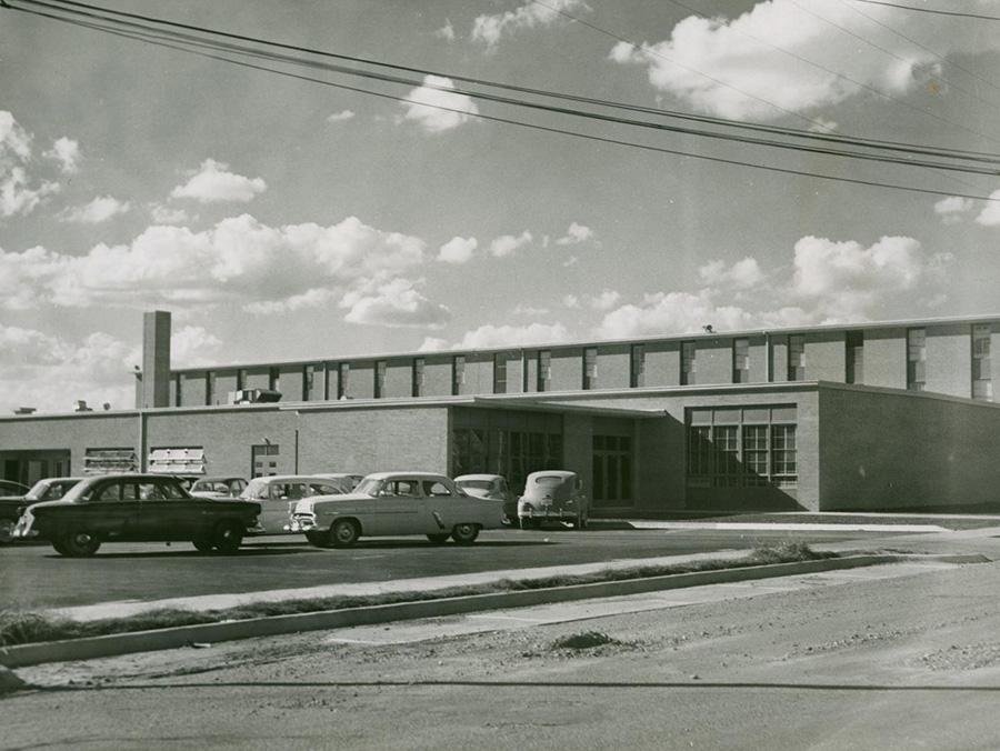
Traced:
[[1000, 21], [858, 0], [96, 4], [416, 72], [253, 61], [280, 76], [0, 9], [0, 413], [131, 408], [153, 309], [174, 368], [1000, 312], [996, 176], [582, 121], [453, 78], [998, 154]]

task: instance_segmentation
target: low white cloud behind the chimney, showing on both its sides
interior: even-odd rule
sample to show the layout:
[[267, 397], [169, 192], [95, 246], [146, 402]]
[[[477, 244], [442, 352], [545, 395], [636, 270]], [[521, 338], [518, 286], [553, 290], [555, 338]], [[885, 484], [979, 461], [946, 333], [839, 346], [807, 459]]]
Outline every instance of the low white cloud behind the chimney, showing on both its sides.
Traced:
[[[213, 359], [219, 339], [202, 327], [186, 327], [171, 337], [171, 360], [180, 368]], [[0, 324], [0, 412], [17, 407], [69, 412], [78, 399], [100, 409], [131, 409], [136, 387], [132, 367], [141, 347], [104, 332], [81, 341], [33, 329]]]

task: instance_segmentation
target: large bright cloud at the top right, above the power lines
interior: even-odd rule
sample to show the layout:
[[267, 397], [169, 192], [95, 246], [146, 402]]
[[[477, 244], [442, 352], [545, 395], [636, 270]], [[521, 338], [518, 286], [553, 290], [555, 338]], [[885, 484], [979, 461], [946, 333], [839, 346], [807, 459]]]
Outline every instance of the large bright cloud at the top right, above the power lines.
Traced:
[[866, 87], [899, 96], [930, 82], [937, 56], [904, 37], [933, 38], [946, 56], [1000, 49], [1000, 38], [969, 34], [960, 20], [878, 6], [862, 14], [840, 0], [769, 0], [733, 19], [689, 16], [668, 39], [638, 48], [619, 42], [609, 57], [644, 66], [657, 90], [700, 111], [773, 119], [837, 104]]

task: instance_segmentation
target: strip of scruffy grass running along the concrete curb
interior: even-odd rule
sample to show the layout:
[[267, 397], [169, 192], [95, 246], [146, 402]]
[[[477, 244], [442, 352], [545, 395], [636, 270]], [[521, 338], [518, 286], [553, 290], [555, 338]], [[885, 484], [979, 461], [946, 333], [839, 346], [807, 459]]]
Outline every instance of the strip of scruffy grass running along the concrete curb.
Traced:
[[36, 613], [17, 609], [0, 610], [0, 647], [14, 647], [44, 641], [64, 639], [82, 639], [86, 637], [103, 637], [116, 633], [170, 629], [180, 625], [201, 623], [219, 623], [270, 615], [294, 615], [313, 613], [323, 610], [346, 610], [371, 605], [416, 602], [418, 600], [439, 600], [446, 598], [468, 597], [472, 594], [492, 594], [497, 592], [514, 592], [574, 584], [596, 584], [608, 581], [628, 581], [647, 579], [676, 573], [694, 573], [699, 571], [719, 571], [722, 569], [744, 568], [748, 565], [768, 565], [772, 563], [794, 563], [837, 558], [837, 553], [817, 552], [802, 542], [782, 542], [777, 545], [758, 548], [739, 559], [719, 559], [691, 561], [674, 565], [639, 565], [631, 569], [594, 571], [583, 574], [566, 574], [539, 579], [501, 579], [486, 584], [467, 587], [449, 587], [446, 589], [421, 592], [386, 592], [366, 595], [334, 595], [302, 600], [282, 600], [279, 602], [252, 602], [222, 610], [150, 610], [144, 613], [123, 618], [106, 618], [96, 621], [74, 621], [69, 618], [49, 613]]

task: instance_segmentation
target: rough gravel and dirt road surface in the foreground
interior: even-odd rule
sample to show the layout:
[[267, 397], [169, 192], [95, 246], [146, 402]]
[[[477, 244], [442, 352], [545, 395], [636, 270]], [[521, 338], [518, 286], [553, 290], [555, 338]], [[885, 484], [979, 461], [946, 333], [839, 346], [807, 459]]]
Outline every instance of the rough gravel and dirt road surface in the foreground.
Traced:
[[[19, 671], [0, 748], [996, 748], [1000, 563], [408, 644]], [[598, 632], [611, 641], [561, 649]]]

